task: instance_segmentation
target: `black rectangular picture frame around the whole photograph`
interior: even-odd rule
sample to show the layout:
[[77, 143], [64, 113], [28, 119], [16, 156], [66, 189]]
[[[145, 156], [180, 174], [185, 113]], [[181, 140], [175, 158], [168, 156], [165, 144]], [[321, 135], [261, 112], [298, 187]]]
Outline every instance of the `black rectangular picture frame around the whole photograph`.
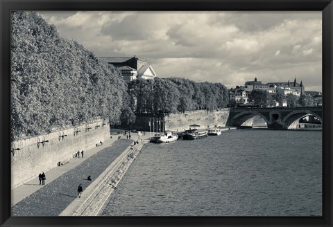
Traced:
[[[332, 0], [0, 0], [1, 226], [332, 226]], [[319, 10], [323, 12], [323, 217], [10, 217], [11, 10]]]

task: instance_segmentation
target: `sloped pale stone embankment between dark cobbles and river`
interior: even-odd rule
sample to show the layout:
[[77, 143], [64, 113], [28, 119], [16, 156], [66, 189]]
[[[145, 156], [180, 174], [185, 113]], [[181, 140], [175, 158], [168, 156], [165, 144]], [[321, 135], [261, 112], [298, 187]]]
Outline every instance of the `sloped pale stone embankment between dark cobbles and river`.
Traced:
[[80, 198], [75, 199], [60, 216], [97, 216], [106, 201], [117, 189], [130, 164], [139, 154], [143, 143], [130, 145], [106, 170], [92, 182]]

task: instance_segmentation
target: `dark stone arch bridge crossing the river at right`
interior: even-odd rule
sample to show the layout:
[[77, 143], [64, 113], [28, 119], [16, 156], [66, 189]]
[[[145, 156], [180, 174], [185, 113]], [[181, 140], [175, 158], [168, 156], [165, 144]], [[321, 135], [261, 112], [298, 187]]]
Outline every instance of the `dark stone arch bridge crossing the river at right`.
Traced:
[[293, 129], [298, 125], [298, 121], [305, 116], [314, 116], [322, 120], [322, 107], [272, 107], [254, 108], [241, 107], [230, 109], [227, 126], [240, 127], [246, 120], [254, 116], [262, 117], [268, 129]]

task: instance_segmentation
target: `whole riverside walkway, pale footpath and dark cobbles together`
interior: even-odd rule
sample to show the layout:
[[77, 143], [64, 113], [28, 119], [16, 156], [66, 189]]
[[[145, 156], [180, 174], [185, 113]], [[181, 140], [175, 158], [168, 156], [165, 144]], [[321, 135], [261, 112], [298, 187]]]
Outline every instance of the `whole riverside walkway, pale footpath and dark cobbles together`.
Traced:
[[[12, 216], [57, 216], [78, 197], [78, 184], [87, 188], [133, 140], [116, 136], [102, 146], [85, 151], [84, 158], [71, 158], [69, 163], [46, 172], [46, 185], [37, 177], [12, 190]], [[142, 139], [148, 136], [141, 136]], [[134, 140], [138, 136], [132, 134]], [[93, 181], [87, 181], [92, 176]], [[83, 192], [84, 194], [85, 192]]]

